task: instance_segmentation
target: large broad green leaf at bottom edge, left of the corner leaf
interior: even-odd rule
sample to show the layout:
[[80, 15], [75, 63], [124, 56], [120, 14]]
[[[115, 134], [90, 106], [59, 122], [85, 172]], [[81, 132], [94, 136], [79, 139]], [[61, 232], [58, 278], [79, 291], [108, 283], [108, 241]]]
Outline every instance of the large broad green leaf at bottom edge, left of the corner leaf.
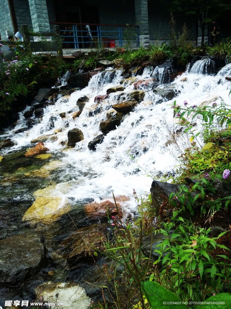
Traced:
[[[176, 309], [182, 308], [186, 309], [185, 305], [179, 305], [182, 303], [181, 299], [173, 294], [172, 292], [166, 290], [163, 286], [160, 286], [158, 283], [153, 281], [145, 281], [144, 282], [144, 295], [148, 299], [151, 307], [153, 309]], [[167, 305], [163, 304], [163, 302], [172, 301], [179, 302], [178, 305]]]

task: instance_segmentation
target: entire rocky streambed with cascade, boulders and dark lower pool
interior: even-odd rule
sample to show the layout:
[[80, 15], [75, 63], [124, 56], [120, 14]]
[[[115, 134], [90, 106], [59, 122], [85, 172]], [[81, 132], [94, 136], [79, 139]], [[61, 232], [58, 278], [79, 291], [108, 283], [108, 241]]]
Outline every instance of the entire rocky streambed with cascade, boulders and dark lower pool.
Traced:
[[133, 188], [150, 191], [146, 173], [174, 173], [160, 122], [180, 129], [169, 105], [230, 102], [231, 65], [217, 73], [214, 59], [194, 59], [180, 74], [174, 61], [116, 67], [67, 73], [63, 84], [41, 88], [0, 135], [2, 307], [59, 294], [64, 307], [86, 308], [99, 297], [105, 261], [95, 256], [96, 265], [88, 252], [107, 237], [106, 208], [136, 216]]

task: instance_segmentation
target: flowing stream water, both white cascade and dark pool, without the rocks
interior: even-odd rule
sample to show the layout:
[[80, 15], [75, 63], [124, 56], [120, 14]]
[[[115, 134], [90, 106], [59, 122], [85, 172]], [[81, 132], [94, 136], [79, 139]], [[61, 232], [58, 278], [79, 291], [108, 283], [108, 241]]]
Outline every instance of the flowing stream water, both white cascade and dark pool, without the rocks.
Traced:
[[[26, 126], [22, 115], [30, 109], [27, 106], [20, 113], [14, 129], [5, 129], [0, 135], [0, 139], [10, 138], [15, 143], [15, 146], [1, 150], [1, 239], [23, 233], [28, 228], [22, 217], [35, 200], [33, 193], [47, 187], [52, 187], [53, 194], [55, 192], [63, 201], [68, 200], [71, 205], [70, 214], [74, 221], [78, 222], [78, 227], [84, 226], [81, 225], [83, 205], [111, 198], [112, 192], [115, 197], [127, 197], [121, 204], [124, 216], [135, 214], [137, 204], [133, 198], [133, 188], [137, 194], [149, 192], [152, 178], [147, 174], [170, 175], [178, 164], [171, 155], [174, 149], [167, 143], [167, 132], [161, 124], [161, 120], [164, 120], [172, 131], [179, 129], [171, 109], [174, 100], [176, 99], [180, 106], [183, 106], [184, 100], [188, 101], [188, 106], [211, 105], [214, 101], [221, 102], [221, 99], [230, 104], [231, 84], [224, 77], [231, 74], [231, 64], [223, 67], [217, 75], [212, 74], [212, 69], [211, 60], [202, 59], [171, 83], [163, 84], [167, 69], [145, 68], [142, 75], [136, 76], [137, 80], [158, 78], [160, 88], [174, 89], [180, 91], [179, 94], [176, 98], [161, 103], [160, 95], [153, 93], [152, 87], [145, 86], [144, 100], [127, 114], [116, 130], [107, 133], [103, 142], [97, 145], [96, 151], [89, 150], [88, 143], [102, 134], [99, 129], [100, 121], [107, 119], [106, 114], [111, 111], [113, 104], [119, 103], [121, 98], [126, 98], [129, 92], [134, 91], [134, 85], [126, 86], [124, 91], [111, 93], [109, 98], [100, 104], [96, 104], [94, 98], [96, 95], [105, 95], [108, 88], [120, 84], [123, 79], [122, 70], [107, 69], [99, 72], [91, 78], [86, 88], [76, 90], [68, 97], [61, 97], [54, 105], [44, 108], [40, 122], [22, 133], [15, 134], [15, 130]], [[76, 101], [84, 95], [89, 101], [80, 116], [73, 120], [71, 112], [79, 110]], [[66, 113], [65, 118], [59, 116], [61, 112]], [[73, 128], [80, 129], [84, 139], [76, 143], [75, 148], [67, 148], [64, 142], [67, 142], [68, 130]], [[41, 135], [54, 134], [55, 130], [58, 132], [56, 140], [44, 143], [51, 154], [49, 158], [41, 160], [24, 156], [26, 149], [31, 147], [31, 140]], [[128, 155], [128, 150], [134, 160]], [[62, 206], [61, 203], [60, 207]], [[55, 260], [55, 248], [75, 229], [70, 217], [64, 214], [62, 219], [45, 227], [37, 225], [36, 228], [43, 230], [46, 238], [46, 265], [29, 283], [19, 287], [0, 287], [0, 299], [34, 299], [34, 288], [49, 280], [75, 280], [86, 288], [89, 295], [97, 294], [96, 289], [83, 282], [94, 281], [94, 265], [82, 263], [81, 267], [71, 269], [64, 261]], [[55, 270], [55, 274], [49, 277], [47, 273], [51, 270]], [[1, 305], [3, 303], [0, 301]]]

